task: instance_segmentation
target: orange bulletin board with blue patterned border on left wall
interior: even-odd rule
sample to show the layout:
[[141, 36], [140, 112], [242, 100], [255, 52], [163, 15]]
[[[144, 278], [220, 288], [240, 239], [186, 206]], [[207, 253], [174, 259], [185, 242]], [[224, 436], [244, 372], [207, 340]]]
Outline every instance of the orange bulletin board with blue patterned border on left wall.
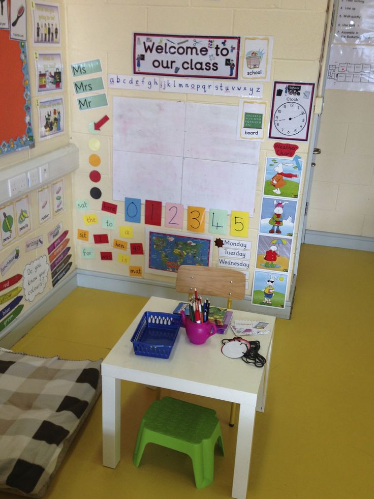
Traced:
[[34, 147], [30, 81], [25, 41], [11, 40], [0, 30], [2, 77], [0, 78], [0, 156]]

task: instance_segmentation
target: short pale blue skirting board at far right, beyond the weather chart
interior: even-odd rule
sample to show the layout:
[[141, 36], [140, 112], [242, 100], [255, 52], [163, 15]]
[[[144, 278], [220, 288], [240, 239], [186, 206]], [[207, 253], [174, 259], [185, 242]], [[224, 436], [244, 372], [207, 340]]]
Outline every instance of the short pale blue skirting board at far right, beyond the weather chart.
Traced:
[[305, 244], [319, 246], [332, 246], [334, 248], [355, 249], [361, 251], [374, 251], [374, 238], [350, 236], [349, 234], [335, 234], [319, 230], [305, 231]]

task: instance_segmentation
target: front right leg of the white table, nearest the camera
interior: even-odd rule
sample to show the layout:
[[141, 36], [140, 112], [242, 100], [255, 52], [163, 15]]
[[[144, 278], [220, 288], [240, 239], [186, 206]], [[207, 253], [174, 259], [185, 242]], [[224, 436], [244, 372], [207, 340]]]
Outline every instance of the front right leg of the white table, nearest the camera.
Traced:
[[235, 497], [235, 499], [245, 499], [247, 495], [255, 416], [256, 407], [240, 404], [234, 479], [231, 493], [231, 496]]

